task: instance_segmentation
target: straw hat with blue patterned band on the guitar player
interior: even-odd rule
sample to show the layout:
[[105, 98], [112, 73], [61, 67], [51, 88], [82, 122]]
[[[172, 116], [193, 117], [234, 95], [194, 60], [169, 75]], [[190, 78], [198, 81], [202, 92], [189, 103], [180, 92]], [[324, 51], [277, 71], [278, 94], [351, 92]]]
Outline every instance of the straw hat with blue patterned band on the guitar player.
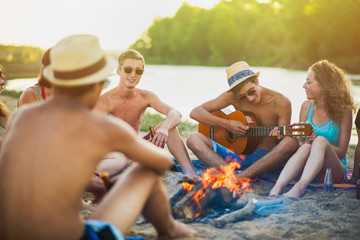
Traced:
[[249, 64], [244, 61], [236, 62], [226, 69], [230, 92], [234, 87], [251, 77], [259, 76], [260, 72], [254, 73]]

